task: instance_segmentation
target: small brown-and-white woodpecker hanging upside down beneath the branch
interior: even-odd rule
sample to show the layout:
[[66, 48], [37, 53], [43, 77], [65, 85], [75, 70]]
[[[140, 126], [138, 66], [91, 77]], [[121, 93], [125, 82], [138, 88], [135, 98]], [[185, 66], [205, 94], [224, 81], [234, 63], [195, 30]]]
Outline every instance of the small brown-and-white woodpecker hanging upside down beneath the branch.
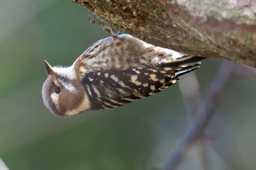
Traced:
[[199, 68], [203, 57], [157, 47], [129, 34], [100, 39], [72, 66], [50, 66], [42, 99], [53, 115], [71, 117], [152, 96]]

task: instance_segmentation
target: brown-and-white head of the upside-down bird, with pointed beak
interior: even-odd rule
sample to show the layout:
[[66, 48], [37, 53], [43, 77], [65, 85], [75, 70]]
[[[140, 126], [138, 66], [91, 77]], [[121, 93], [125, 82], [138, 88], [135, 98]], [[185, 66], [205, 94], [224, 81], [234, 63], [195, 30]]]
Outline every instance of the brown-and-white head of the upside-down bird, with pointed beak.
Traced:
[[53, 115], [76, 115], [89, 107], [74, 66], [52, 67], [47, 61], [45, 66], [48, 77], [42, 85], [42, 99]]

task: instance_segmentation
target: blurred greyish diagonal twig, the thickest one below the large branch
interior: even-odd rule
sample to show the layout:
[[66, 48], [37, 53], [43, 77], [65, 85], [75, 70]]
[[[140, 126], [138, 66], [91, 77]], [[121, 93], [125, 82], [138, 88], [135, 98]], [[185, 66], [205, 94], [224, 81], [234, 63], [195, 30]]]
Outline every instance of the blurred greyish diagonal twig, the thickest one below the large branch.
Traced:
[[187, 151], [195, 144], [197, 139], [203, 134], [206, 125], [208, 125], [211, 116], [214, 114], [215, 106], [222, 93], [223, 88], [227, 84], [234, 67], [234, 63], [224, 61], [214, 81], [209, 85], [208, 93], [195, 117], [194, 123], [188, 128], [187, 132], [181, 138], [173, 152], [170, 153], [166, 161], [162, 164], [161, 170], [177, 169]]

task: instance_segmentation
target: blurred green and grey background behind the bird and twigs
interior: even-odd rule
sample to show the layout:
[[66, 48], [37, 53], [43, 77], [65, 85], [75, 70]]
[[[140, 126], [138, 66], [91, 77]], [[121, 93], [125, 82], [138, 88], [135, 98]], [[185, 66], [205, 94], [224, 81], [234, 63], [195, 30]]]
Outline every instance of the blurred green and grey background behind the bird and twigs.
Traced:
[[[43, 60], [69, 66], [109, 36], [87, 15], [71, 1], [0, 0], [0, 157], [10, 170], [157, 168], [189, 125], [178, 85], [116, 109], [50, 114], [41, 97]], [[200, 93], [222, 61], [197, 69]], [[255, 70], [237, 64], [208, 125], [216, 139], [203, 143], [208, 169], [255, 169], [255, 85]], [[192, 152], [179, 169], [197, 169]]]

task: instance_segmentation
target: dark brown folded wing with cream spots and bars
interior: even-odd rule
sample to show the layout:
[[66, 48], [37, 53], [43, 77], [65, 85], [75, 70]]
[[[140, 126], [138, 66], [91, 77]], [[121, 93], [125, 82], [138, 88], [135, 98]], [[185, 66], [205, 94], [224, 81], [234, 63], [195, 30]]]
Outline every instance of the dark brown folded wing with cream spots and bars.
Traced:
[[113, 69], [87, 73], [82, 83], [91, 109], [122, 106], [151, 96], [179, 80], [179, 76], [197, 69], [200, 63], [176, 67]]

